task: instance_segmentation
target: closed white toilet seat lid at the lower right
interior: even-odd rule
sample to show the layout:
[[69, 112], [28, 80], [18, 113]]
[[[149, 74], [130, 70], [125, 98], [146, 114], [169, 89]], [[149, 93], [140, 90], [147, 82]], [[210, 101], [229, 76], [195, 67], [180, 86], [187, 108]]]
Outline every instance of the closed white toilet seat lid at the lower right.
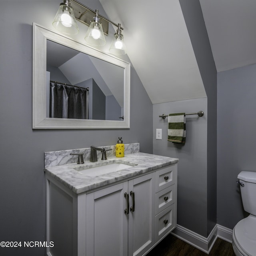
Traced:
[[256, 255], [256, 217], [250, 215], [236, 224], [233, 242], [242, 255]]

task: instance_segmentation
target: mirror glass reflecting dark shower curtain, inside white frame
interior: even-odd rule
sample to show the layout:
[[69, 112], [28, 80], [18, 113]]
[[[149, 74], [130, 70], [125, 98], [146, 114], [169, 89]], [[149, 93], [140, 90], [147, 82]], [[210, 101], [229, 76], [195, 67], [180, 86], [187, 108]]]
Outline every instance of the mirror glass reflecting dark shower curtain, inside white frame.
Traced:
[[47, 39], [48, 118], [122, 120], [124, 68]]

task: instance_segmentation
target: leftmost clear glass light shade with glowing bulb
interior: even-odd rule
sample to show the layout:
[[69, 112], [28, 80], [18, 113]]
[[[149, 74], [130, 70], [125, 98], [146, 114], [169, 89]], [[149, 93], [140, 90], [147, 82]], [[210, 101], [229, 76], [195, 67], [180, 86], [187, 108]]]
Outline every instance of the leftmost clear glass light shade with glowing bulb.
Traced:
[[64, 34], [77, 34], [79, 31], [73, 8], [64, 3], [60, 4], [52, 25]]

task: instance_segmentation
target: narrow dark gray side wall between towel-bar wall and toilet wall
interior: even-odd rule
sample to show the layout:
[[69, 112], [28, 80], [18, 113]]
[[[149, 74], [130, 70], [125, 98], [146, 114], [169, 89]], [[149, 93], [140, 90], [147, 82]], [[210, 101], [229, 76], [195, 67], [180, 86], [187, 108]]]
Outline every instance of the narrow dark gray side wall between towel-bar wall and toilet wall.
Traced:
[[180, 0], [196, 61], [208, 100], [207, 125], [207, 232], [216, 225], [217, 180], [217, 71], [199, 0]]

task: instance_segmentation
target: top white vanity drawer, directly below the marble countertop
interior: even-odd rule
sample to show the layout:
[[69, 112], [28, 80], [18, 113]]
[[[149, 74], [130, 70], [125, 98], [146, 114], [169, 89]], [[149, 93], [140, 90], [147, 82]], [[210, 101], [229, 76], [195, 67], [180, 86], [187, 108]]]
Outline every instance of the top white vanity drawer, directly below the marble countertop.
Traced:
[[173, 185], [174, 177], [177, 171], [177, 165], [169, 166], [167, 168], [156, 171], [156, 192], [161, 191]]

